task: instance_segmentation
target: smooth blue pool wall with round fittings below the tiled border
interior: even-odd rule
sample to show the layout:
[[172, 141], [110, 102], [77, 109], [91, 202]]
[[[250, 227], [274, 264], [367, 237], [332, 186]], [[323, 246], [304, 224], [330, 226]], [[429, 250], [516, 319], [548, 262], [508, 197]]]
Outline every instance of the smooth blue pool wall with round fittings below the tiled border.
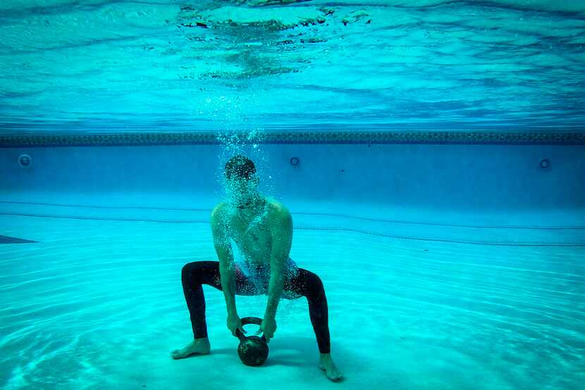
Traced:
[[[264, 189], [281, 199], [467, 209], [585, 206], [580, 144], [246, 144]], [[23, 168], [22, 154], [31, 157]], [[219, 156], [222, 156], [221, 158]], [[0, 149], [4, 194], [164, 192], [218, 196], [221, 144]], [[223, 159], [222, 159], [223, 158]], [[296, 165], [295, 165], [296, 164]]]

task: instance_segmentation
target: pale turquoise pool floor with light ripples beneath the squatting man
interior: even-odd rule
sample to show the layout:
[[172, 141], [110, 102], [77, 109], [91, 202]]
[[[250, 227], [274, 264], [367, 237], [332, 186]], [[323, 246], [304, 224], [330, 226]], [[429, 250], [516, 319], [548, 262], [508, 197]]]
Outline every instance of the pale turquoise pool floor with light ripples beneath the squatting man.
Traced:
[[[281, 301], [269, 360], [247, 367], [226, 327], [223, 293], [205, 286], [211, 354], [171, 359], [192, 339], [181, 267], [216, 260], [204, 219], [33, 211], [0, 215], [0, 234], [37, 241], [0, 245], [6, 389], [579, 389], [585, 382], [585, 248], [575, 229], [517, 237], [505, 227], [445, 232], [414, 224], [401, 236], [398, 225], [385, 235], [377, 222], [341, 210], [299, 215], [290, 256], [324, 282], [331, 353], [345, 374], [332, 384], [317, 367], [304, 298]], [[429, 239], [441, 231], [447, 239]], [[266, 296], [236, 301], [240, 317], [261, 317], [266, 307]]]

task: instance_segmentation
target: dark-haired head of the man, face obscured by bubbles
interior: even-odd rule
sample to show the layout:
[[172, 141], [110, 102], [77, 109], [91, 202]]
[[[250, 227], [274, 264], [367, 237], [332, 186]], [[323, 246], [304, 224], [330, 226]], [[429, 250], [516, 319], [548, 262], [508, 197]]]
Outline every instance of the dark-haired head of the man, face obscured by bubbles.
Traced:
[[259, 178], [250, 158], [238, 155], [230, 158], [224, 171], [226, 191], [235, 203], [249, 203], [259, 198]]

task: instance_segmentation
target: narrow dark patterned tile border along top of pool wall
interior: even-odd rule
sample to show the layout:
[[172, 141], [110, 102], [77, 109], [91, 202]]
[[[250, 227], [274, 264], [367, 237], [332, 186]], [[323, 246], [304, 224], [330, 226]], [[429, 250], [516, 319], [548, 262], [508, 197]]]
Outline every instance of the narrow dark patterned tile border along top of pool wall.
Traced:
[[[367, 131], [222, 134], [261, 144], [541, 144], [585, 145], [585, 132]], [[221, 144], [216, 132], [0, 135], [0, 148]]]

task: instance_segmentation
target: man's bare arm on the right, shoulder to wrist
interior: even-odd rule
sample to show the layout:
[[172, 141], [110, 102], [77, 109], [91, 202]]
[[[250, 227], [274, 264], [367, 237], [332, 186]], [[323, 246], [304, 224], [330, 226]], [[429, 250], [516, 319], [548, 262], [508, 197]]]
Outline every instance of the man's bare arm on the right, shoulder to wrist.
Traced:
[[264, 318], [273, 319], [283, 292], [284, 268], [293, 242], [293, 218], [284, 206], [279, 205], [273, 214], [271, 224], [273, 228], [271, 229], [269, 297]]

